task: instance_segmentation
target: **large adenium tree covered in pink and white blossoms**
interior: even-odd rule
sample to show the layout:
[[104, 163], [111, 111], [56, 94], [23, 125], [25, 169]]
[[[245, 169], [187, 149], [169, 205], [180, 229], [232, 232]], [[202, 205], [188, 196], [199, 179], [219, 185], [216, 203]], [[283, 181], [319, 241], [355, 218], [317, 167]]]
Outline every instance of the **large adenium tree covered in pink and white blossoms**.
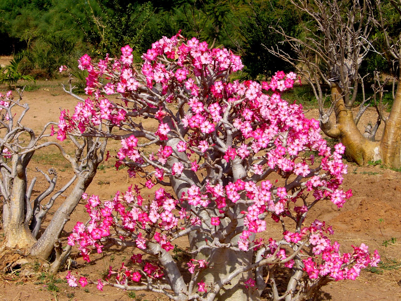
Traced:
[[[106, 279], [69, 272], [71, 286], [150, 290], [177, 301], [257, 300], [266, 289], [272, 300], [305, 300], [329, 281], [355, 279], [377, 264], [377, 252], [371, 256], [365, 245], [341, 253], [324, 222], [304, 225], [316, 203], [341, 207], [352, 193], [340, 188], [344, 146], [332, 151], [319, 122], [281, 98], [296, 74], [232, 80], [240, 57], [179, 34], [154, 43], [141, 67], [131, 52], [125, 46], [120, 58], [96, 63], [81, 57], [89, 97], [61, 116], [61, 139], [121, 140], [116, 166], [143, 179], [110, 201], [84, 195], [90, 221], [77, 223], [69, 244], [87, 261], [92, 250], [113, 244], [132, 247], [132, 257], [110, 267]], [[282, 224], [279, 237], [270, 237], [273, 222]], [[171, 254], [182, 237], [191, 254], [188, 283]], [[279, 289], [282, 269], [289, 278]]]

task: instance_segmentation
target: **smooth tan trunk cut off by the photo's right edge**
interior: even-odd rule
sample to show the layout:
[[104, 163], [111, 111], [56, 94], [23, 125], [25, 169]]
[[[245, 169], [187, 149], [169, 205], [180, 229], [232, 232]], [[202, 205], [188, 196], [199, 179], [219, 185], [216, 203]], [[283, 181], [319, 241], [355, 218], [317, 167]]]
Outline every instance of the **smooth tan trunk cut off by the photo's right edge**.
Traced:
[[401, 167], [401, 77], [389, 118], [385, 121], [381, 139], [381, 157], [388, 167]]

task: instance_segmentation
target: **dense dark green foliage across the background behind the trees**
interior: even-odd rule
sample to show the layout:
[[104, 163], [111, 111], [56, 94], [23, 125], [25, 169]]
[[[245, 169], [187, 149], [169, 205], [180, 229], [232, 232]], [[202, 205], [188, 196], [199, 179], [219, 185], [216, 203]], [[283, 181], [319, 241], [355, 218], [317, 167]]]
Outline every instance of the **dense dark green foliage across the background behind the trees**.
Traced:
[[[399, 16], [390, 4], [386, 9], [390, 32], [399, 32]], [[126, 44], [140, 61], [152, 42], [182, 30], [186, 37], [240, 54], [243, 79], [262, 79], [278, 69], [291, 69], [266, 47], [279, 45], [295, 56], [272, 28], [300, 36], [305, 35], [300, 30], [305, 22], [307, 18], [286, 0], [0, 0], [0, 54], [24, 51], [20, 72], [49, 78], [60, 65], [71, 66], [84, 53], [114, 56]], [[377, 51], [369, 53], [362, 73], [395, 71], [379, 31], [372, 41]]]

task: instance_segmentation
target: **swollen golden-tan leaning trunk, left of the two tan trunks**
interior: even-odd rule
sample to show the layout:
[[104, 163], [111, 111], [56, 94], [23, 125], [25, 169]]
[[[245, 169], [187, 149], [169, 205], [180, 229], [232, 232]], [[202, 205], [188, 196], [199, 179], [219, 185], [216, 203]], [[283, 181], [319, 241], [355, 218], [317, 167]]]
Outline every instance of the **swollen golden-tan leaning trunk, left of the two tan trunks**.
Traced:
[[348, 160], [358, 165], [366, 164], [370, 160], [380, 159], [379, 142], [368, 140], [358, 130], [352, 110], [345, 105], [342, 89], [338, 85], [332, 85], [331, 97], [334, 104], [336, 124], [322, 123], [323, 132], [330, 138], [339, 139], [345, 146], [345, 155]]

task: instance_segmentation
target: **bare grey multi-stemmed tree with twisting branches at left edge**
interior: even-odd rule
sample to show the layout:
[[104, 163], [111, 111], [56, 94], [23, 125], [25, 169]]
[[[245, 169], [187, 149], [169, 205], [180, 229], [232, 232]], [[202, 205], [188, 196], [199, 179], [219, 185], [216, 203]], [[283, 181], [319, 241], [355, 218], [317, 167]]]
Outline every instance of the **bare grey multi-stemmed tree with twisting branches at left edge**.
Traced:
[[[41, 260], [50, 258], [56, 251], [51, 271], [56, 272], [60, 264], [69, 255], [70, 248], [63, 250], [59, 237], [69, 216], [81, 200], [82, 193], [91, 183], [97, 166], [103, 160], [103, 153], [107, 139], [100, 138], [77, 139], [70, 137], [77, 146], [74, 156], [68, 155], [62, 145], [51, 140], [55, 133], [56, 122], [48, 122], [40, 133], [23, 125], [23, 118], [29, 110], [28, 104], [22, 104], [22, 93], [18, 99], [11, 92], [0, 94], [0, 192], [2, 196], [2, 225], [5, 238], [0, 246], [2, 270], [16, 264], [15, 258], [9, 254], [15, 251], [22, 255], [32, 255]], [[17, 112], [20, 111], [20, 114]], [[79, 142], [81, 140], [81, 142]], [[99, 140], [99, 141], [98, 141]], [[35, 151], [41, 148], [56, 146], [61, 155], [71, 163], [74, 170], [73, 177], [58, 191], [55, 191], [57, 171], [53, 168], [47, 173], [36, 169], [49, 187], [37, 197], [32, 197], [32, 191], [37, 177], [28, 183], [27, 167]], [[86, 150], [85, 150], [86, 148]], [[42, 222], [55, 200], [73, 186], [65, 201], [59, 206], [46, 227], [40, 233]], [[57, 248], [55, 248], [57, 246]], [[13, 259], [14, 258], [14, 259]]]

